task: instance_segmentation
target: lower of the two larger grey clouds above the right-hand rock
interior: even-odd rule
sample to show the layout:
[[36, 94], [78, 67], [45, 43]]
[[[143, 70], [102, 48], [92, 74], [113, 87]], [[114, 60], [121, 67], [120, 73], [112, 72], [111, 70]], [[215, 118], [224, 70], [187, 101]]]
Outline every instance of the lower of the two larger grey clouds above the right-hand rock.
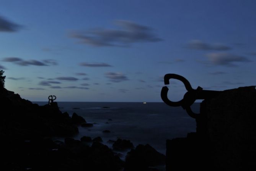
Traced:
[[244, 56], [233, 55], [230, 53], [209, 53], [206, 55], [213, 65], [236, 66], [234, 62], [250, 62]]

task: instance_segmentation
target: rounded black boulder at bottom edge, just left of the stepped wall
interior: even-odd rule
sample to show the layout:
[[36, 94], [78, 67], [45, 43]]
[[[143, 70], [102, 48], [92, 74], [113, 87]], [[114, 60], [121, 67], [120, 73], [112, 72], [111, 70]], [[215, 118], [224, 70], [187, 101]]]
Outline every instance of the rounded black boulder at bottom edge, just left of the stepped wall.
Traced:
[[149, 166], [165, 165], [165, 155], [150, 145], [138, 145], [126, 156], [125, 171], [149, 171]]

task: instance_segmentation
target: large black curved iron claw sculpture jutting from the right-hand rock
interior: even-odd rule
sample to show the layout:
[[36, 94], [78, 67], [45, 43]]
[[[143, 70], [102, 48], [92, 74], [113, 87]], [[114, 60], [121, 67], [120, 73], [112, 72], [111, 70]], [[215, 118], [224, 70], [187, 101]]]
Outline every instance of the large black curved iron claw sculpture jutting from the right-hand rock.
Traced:
[[197, 87], [197, 89], [192, 89], [189, 81], [184, 78], [183, 76], [180, 76], [178, 74], [166, 74], [164, 77], [165, 85], [170, 84], [170, 79], [178, 79], [179, 81], [183, 82], [186, 90], [186, 94], [184, 94], [184, 97], [182, 100], [178, 102], [172, 102], [168, 99], [167, 93], [168, 93], [168, 87], [163, 87], [161, 90], [161, 98], [163, 102], [165, 102], [169, 106], [181, 106], [184, 110], [187, 111], [188, 115], [192, 118], [197, 118], [199, 114], [194, 113], [191, 110], [191, 105], [197, 100], [197, 99], [209, 99], [213, 98], [216, 95], [218, 95], [222, 91], [212, 91], [212, 90], [203, 90], [202, 87]]

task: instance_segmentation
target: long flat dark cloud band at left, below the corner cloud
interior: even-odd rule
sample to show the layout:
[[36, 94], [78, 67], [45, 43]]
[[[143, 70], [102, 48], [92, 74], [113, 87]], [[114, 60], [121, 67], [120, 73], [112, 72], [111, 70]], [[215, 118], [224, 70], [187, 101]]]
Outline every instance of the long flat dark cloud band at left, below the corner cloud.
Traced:
[[17, 57], [7, 57], [3, 58], [4, 62], [12, 62], [15, 63], [16, 65], [20, 66], [29, 66], [29, 65], [36, 65], [36, 66], [49, 66], [49, 65], [57, 65], [57, 62], [54, 60], [43, 60], [37, 61], [37, 60], [23, 60], [21, 58]]

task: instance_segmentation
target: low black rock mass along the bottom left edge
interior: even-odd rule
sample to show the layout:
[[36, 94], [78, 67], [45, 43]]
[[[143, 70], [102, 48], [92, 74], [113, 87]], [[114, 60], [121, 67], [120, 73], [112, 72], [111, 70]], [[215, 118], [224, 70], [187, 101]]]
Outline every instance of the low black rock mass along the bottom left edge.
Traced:
[[99, 142], [94, 142], [91, 147], [81, 142], [59, 145], [51, 139], [8, 143], [11, 149], [3, 148], [4, 144], [1, 144], [1, 155], [5, 156], [1, 168], [4, 170], [118, 171], [124, 165], [111, 149]]

